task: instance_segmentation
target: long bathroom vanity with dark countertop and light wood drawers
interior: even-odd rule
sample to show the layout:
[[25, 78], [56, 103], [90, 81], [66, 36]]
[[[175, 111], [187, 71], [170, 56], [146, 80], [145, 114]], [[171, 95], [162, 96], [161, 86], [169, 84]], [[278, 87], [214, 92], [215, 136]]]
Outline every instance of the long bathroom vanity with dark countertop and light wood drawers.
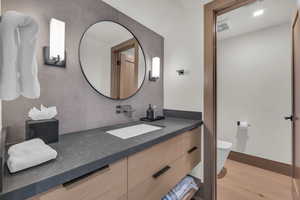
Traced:
[[60, 136], [57, 160], [6, 173], [0, 199], [160, 199], [200, 162], [201, 120], [147, 123], [163, 128], [129, 139], [107, 133], [140, 123]]

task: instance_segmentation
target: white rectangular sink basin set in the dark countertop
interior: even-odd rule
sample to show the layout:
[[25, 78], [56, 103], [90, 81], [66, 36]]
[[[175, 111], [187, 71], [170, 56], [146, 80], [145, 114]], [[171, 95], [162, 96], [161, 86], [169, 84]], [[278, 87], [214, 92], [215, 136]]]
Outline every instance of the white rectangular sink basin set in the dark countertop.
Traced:
[[138, 124], [133, 126], [127, 126], [124, 128], [119, 128], [115, 130], [106, 131], [106, 133], [109, 133], [113, 136], [122, 138], [122, 139], [128, 139], [132, 137], [136, 137], [139, 135], [143, 135], [146, 133], [150, 133], [153, 131], [157, 131], [162, 129], [160, 126], [153, 126], [149, 124]]

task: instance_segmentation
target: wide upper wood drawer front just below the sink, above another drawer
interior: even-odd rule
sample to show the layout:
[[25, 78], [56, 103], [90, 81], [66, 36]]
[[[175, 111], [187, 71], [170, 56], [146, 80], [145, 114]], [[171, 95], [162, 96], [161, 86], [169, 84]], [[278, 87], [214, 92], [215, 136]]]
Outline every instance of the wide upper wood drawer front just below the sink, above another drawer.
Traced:
[[128, 157], [128, 189], [132, 189], [184, 154], [183, 135]]

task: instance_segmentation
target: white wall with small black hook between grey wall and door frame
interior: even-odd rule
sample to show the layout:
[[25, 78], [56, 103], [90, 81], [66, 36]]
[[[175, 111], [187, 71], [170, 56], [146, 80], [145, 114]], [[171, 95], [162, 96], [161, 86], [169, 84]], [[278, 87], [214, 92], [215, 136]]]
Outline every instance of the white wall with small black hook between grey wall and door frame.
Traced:
[[[175, 23], [174, 30], [166, 36], [164, 106], [167, 109], [202, 111], [202, 11], [200, 3], [186, 8], [182, 25]], [[178, 76], [177, 69], [185, 69], [187, 74]]]

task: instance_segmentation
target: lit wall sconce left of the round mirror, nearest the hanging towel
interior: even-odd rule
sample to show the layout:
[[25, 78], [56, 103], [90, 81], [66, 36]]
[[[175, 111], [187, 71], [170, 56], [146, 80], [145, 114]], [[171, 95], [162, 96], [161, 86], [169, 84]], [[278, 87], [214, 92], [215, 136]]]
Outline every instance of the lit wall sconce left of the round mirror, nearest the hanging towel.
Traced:
[[65, 22], [54, 18], [50, 20], [50, 46], [44, 47], [46, 65], [66, 67], [65, 29]]

